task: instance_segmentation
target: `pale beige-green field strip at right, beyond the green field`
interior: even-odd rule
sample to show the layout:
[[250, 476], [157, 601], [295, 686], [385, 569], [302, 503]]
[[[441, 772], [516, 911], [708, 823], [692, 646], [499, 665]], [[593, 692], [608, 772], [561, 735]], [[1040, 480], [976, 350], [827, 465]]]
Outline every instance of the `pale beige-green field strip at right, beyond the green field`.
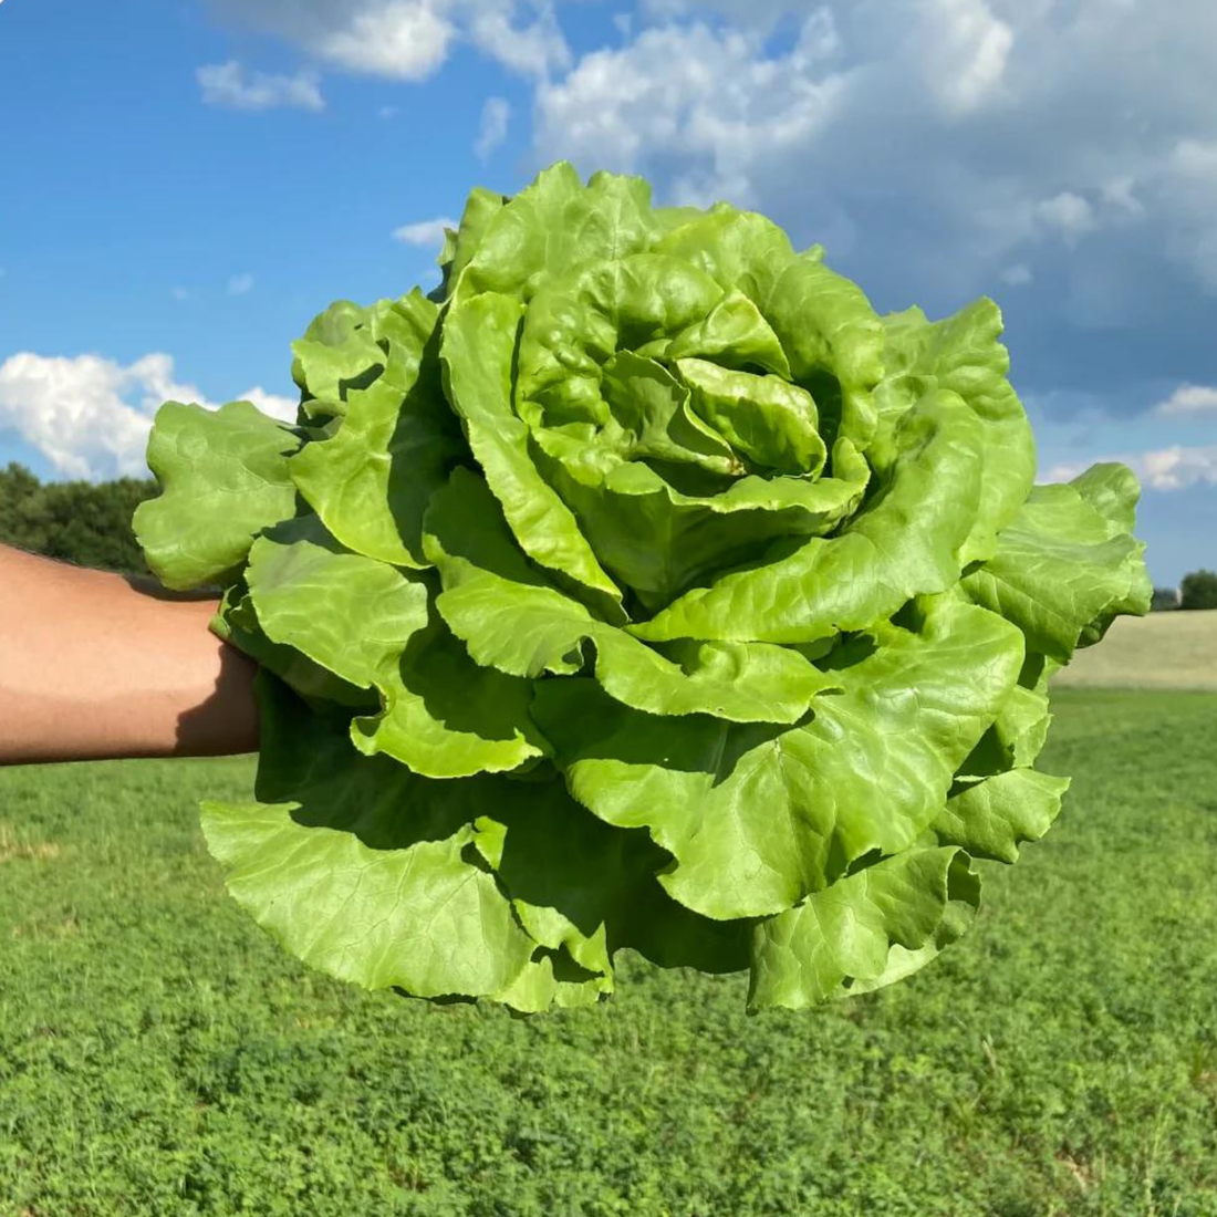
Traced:
[[1217, 610], [1117, 617], [1055, 679], [1094, 689], [1217, 689]]

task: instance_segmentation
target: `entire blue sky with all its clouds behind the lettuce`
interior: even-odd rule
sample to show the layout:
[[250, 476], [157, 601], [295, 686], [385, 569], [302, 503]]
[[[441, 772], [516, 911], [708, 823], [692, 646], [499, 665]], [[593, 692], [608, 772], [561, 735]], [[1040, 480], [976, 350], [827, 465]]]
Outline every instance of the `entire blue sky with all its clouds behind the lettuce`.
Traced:
[[1173, 583], [1217, 567], [1215, 69], [1210, 0], [2, 0], [0, 461], [290, 409], [313, 314], [430, 286], [471, 186], [566, 156], [764, 211], [881, 310], [994, 297], [1042, 476], [1133, 462]]

